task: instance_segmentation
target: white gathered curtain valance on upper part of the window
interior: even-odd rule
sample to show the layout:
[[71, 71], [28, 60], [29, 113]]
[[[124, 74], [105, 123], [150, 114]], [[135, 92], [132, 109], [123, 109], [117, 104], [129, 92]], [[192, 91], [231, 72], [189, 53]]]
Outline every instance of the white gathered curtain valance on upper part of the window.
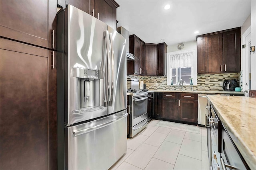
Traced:
[[169, 67], [179, 68], [179, 67], [192, 67], [193, 66], [193, 51], [185, 53], [170, 54]]

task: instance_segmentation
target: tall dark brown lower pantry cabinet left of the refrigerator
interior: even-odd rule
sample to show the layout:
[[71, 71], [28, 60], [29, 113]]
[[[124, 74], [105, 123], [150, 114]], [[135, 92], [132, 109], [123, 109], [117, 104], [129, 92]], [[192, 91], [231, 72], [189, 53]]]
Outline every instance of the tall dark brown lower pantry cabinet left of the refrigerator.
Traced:
[[0, 169], [57, 169], [52, 51], [0, 39]]

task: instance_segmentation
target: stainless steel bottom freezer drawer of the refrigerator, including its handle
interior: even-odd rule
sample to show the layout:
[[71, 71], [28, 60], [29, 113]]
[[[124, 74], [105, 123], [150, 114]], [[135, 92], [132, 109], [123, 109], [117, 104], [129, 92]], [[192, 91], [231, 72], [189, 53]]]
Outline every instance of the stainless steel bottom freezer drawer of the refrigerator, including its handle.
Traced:
[[65, 169], [108, 169], [127, 149], [127, 111], [65, 128]]

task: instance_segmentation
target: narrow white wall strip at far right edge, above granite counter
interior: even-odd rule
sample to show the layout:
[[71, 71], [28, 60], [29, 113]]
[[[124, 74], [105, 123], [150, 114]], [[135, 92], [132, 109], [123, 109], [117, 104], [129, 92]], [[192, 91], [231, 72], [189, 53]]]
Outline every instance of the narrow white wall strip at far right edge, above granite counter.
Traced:
[[[256, 46], [256, 1], [251, 1], [251, 43]], [[251, 89], [256, 90], [256, 52], [251, 53]]]

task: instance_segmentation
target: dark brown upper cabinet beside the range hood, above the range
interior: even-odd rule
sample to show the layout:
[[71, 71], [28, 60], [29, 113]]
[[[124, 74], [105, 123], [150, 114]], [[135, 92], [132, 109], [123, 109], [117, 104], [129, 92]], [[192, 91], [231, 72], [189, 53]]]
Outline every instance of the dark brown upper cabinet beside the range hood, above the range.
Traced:
[[[134, 69], [135, 74], [145, 74], [145, 43], [136, 35], [129, 36], [129, 52], [134, 54], [137, 59], [132, 61], [134, 62], [134, 68], [129, 68], [127, 66], [127, 73], [130, 73], [131, 70]], [[130, 64], [130, 62], [127, 63]]]

